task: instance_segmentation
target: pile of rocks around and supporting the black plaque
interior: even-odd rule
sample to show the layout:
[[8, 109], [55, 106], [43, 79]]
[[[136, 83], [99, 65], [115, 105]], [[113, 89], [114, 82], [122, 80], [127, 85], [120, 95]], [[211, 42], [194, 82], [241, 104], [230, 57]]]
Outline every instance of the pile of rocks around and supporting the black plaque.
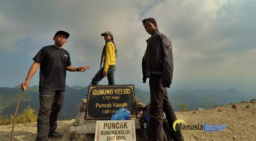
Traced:
[[[87, 101], [82, 99], [82, 105], [80, 106], [80, 113], [78, 113], [76, 120], [72, 125], [77, 124], [87, 124], [87, 123], [96, 123], [97, 120], [85, 120], [85, 110]], [[142, 110], [145, 107], [145, 104], [141, 102], [140, 99], [135, 99], [136, 104], [136, 112], [137, 118], [130, 119], [141, 119], [142, 118]], [[78, 134], [78, 133], [70, 133], [70, 141], [94, 141], [95, 133], [90, 134]], [[136, 141], [143, 141], [143, 131], [141, 129], [136, 129]]]

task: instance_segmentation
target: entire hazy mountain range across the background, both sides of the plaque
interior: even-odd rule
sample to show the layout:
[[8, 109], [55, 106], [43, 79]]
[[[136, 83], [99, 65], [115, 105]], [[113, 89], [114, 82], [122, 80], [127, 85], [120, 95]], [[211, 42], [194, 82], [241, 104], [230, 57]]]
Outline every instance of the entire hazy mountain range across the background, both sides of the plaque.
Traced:
[[[20, 102], [19, 111], [31, 106], [38, 112], [39, 109], [39, 92], [38, 86], [28, 87], [24, 91]], [[144, 103], [150, 102], [150, 92], [135, 89], [135, 96]], [[20, 85], [14, 88], [0, 87], [0, 107], [3, 108], [3, 115], [12, 115], [16, 108], [18, 97], [20, 96]], [[60, 112], [59, 119], [75, 118], [79, 112], [81, 99], [86, 99], [88, 94], [88, 86], [68, 86], [66, 85], [66, 94], [64, 104]], [[168, 89], [168, 98], [175, 111], [178, 111], [178, 105], [185, 103], [188, 110], [196, 110], [198, 108], [212, 108], [215, 105], [226, 105], [232, 102], [248, 101], [255, 98], [255, 93], [240, 92], [234, 88], [224, 91], [221, 90], [172, 90]]]

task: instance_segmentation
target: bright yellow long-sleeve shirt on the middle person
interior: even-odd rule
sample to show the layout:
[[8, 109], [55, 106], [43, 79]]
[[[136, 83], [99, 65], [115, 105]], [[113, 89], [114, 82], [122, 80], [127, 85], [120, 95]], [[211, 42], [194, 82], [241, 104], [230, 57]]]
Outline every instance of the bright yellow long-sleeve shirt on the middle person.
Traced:
[[108, 42], [106, 45], [106, 55], [104, 55], [104, 71], [108, 71], [109, 65], [116, 65], [116, 53], [115, 47], [112, 42]]

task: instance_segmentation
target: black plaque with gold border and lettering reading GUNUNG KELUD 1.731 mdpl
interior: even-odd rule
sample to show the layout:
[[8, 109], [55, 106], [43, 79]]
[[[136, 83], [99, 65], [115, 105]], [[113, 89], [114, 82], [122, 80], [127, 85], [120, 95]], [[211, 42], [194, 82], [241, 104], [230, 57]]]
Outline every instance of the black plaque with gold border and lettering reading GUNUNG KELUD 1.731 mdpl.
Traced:
[[89, 86], [84, 119], [111, 119], [120, 108], [136, 118], [134, 85]]

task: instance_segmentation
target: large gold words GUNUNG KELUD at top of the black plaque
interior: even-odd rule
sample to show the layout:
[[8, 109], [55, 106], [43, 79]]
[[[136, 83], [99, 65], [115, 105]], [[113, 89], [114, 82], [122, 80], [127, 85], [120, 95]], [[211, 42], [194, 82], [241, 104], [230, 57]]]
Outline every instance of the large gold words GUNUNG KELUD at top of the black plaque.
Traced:
[[130, 89], [103, 89], [93, 90], [93, 95], [109, 95], [109, 94], [130, 94]]

